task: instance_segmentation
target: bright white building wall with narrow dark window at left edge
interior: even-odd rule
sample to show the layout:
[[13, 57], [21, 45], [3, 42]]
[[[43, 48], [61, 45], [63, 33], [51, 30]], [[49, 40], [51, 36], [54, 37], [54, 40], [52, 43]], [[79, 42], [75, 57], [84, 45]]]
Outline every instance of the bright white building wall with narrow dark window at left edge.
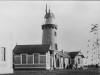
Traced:
[[[5, 51], [3, 48], [5, 48]], [[0, 43], [0, 74], [13, 73], [13, 48], [12, 42]]]

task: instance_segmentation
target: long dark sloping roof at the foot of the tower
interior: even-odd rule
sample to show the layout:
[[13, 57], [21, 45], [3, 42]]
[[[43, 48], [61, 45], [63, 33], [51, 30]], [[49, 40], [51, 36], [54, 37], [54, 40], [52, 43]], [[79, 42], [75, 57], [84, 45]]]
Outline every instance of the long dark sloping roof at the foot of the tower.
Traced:
[[16, 45], [13, 52], [14, 54], [21, 53], [46, 53], [50, 51], [50, 45]]

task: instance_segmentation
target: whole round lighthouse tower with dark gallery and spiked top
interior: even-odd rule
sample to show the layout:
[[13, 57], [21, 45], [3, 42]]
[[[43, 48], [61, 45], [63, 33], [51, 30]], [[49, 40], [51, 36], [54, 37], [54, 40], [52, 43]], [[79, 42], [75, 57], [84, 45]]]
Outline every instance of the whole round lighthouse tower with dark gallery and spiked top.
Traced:
[[48, 44], [52, 50], [58, 50], [57, 48], [57, 25], [54, 24], [55, 16], [51, 13], [50, 9], [47, 9], [44, 16], [45, 23], [42, 25], [43, 35], [42, 44]]

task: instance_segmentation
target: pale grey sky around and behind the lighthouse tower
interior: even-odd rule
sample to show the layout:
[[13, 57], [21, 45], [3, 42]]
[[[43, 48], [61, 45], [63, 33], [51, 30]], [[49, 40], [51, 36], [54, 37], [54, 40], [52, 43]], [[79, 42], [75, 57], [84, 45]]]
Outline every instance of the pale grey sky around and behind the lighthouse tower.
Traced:
[[55, 14], [59, 49], [86, 49], [90, 25], [100, 25], [100, 1], [0, 1], [0, 41], [41, 44], [46, 3]]

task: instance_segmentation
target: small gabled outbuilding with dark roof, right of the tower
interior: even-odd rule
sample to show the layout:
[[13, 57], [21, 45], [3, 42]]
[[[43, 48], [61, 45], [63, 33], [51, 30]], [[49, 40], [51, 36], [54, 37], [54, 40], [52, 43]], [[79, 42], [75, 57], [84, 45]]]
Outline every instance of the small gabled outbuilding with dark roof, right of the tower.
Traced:
[[84, 65], [84, 55], [80, 51], [75, 52], [68, 52], [68, 55], [70, 56], [69, 59], [69, 67], [70, 68], [81, 68]]

